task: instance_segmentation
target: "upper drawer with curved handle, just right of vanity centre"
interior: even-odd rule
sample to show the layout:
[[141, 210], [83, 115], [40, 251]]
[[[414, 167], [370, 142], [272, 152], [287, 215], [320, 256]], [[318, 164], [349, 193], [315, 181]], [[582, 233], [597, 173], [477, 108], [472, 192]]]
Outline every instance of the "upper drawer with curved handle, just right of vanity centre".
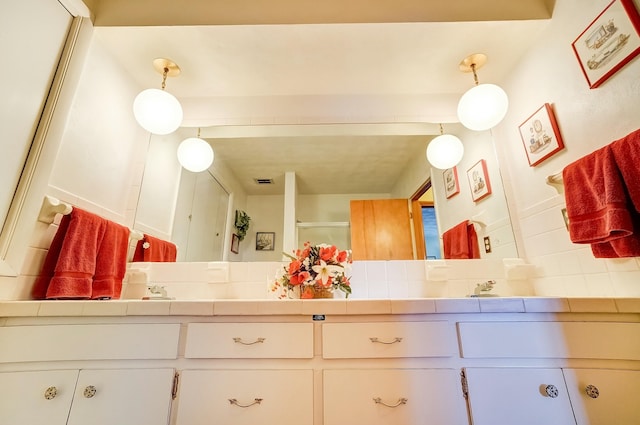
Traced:
[[455, 328], [448, 322], [325, 323], [322, 357], [451, 357]]

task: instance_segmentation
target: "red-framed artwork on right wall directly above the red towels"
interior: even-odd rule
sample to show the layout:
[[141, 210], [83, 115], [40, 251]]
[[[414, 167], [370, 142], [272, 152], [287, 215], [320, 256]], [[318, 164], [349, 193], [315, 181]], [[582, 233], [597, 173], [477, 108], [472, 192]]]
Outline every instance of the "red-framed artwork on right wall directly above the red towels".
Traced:
[[530, 167], [564, 149], [553, 108], [548, 103], [527, 118], [519, 129]]

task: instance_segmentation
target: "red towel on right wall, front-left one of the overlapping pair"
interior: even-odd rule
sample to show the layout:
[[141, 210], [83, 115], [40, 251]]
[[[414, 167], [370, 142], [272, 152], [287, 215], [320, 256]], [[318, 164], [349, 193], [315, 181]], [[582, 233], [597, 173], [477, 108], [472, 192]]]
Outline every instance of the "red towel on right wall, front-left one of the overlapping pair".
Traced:
[[628, 198], [611, 145], [567, 165], [562, 171], [575, 243], [602, 243], [633, 233]]

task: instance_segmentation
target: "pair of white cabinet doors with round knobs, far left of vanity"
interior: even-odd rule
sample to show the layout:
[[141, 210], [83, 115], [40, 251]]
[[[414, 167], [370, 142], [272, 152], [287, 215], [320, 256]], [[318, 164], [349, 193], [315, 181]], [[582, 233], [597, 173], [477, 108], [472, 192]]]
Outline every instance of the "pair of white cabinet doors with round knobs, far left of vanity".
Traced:
[[0, 423], [166, 424], [173, 376], [173, 369], [2, 372]]

